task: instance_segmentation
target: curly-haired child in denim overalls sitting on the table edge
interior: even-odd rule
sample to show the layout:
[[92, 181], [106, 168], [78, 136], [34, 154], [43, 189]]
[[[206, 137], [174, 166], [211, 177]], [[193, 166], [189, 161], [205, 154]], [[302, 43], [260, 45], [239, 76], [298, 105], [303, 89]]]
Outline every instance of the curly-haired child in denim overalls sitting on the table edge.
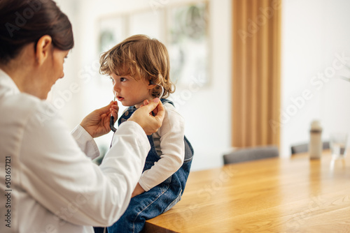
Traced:
[[129, 119], [144, 100], [159, 97], [166, 110], [162, 127], [148, 136], [151, 150], [130, 205], [120, 220], [108, 227], [108, 232], [141, 232], [146, 220], [168, 211], [181, 200], [193, 148], [184, 136], [183, 118], [166, 99], [174, 93], [169, 68], [165, 45], [144, 35], [131, 36], [102, 54], [102, 73], [111, 76], [116, 98], [130, 106], [118, 124]]

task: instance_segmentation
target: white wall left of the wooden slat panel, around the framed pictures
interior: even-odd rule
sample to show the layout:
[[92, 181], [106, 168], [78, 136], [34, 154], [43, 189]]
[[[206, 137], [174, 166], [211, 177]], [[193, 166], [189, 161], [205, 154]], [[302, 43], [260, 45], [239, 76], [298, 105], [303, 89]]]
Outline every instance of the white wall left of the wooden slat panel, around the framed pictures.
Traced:
[[[55, 87], [51, 101], [66, 97], [63, 107], [59, 108], [64, 119], [73, 128], [86, 114], [102, 105], [107, 105], [112, 98], [109, 79], [98, 74], [98, 18], [109, 14], [152, 10], [151, 3], [158, 2], [167, 6], [193, 1], [57, 0], [57, 2], [72, 21], [76, 46], [66, 60], [65, 78]], [[186, 86], [176, 88], [176, 93], [183, 93], [185, 96], [178, 110], [186, 120], [186, 136], [195, 149], [193, 170], [221, 166], [223, 153], [230, 149], [231, 6], [230, 0], [209, 2], [212, 49], [210, 83], [198, 89]], [[73, 82], [78, 84], [79, 90], [68, 98], [69, 86]], [[62, 93], [66, 93], [66, 96]], [[99, 144], [109, 146], [111, 134], [97, 141]]]

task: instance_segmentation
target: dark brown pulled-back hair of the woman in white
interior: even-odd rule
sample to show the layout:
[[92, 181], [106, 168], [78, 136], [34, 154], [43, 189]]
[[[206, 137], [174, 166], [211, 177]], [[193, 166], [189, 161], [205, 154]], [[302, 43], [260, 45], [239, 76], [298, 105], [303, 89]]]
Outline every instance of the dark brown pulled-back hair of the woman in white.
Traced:
[[71, 22], [55, 1], [0, 1], [0, 63], [8, 63], [22, 47], [36, 45], [45, 35], [51, 36], [59, 50], [70, 50], [74, 45]]

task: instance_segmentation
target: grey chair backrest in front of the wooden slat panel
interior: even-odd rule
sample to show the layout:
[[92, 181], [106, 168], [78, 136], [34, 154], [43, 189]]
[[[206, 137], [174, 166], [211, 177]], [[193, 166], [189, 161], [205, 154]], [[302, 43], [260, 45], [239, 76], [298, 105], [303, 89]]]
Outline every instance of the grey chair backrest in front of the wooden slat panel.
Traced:
[[250, 160], [258, 160], [262, 158], [272, 158], [279, 156], [277, 146], [256, 146], [244, 149], [238, 149], [223, 156], [223, 163], [241, 163]]

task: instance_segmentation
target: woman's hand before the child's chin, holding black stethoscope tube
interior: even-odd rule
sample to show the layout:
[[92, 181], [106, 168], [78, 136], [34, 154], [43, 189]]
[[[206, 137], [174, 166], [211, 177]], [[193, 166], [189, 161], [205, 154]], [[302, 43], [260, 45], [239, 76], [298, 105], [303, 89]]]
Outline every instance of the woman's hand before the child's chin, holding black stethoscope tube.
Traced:
[[88, 114], [83, 121], [81, 121], [80, 126], [83, 126], [92, 137], [105, 135], [111, 131], [109, 127], [111, 115], [113, 115], [114, 121], [118, 119], [118, 110], [118, 103], [116, 101], [111, 101], [106, 107], [94, 110], [94, 112]]

